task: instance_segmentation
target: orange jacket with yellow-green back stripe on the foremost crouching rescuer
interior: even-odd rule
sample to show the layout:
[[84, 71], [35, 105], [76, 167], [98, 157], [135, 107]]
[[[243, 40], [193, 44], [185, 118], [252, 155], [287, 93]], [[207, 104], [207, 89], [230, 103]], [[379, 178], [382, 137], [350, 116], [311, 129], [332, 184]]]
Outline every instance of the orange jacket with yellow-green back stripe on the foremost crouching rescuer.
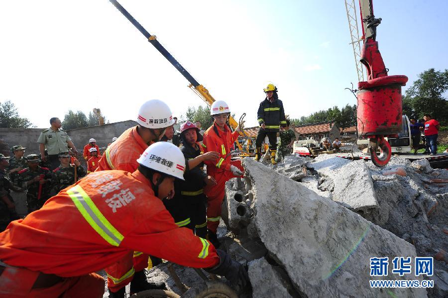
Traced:
[[74, 277], [100, 271], [129, 251], [183, 266], [210, 268], [209, 241], [179, 228], [139, 171], [95, 172], [0, 233], [0, 260]]

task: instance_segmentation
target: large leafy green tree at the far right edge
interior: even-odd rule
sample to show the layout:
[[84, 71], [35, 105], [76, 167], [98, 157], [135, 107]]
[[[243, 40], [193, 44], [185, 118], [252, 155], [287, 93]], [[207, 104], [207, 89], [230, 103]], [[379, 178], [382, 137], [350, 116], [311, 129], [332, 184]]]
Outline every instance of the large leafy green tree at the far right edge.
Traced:
[[[423, 118], [426, 113], [446, 124], [448, 118], [448, 100], [444, 97], [448, 90], [448, 70], [436, 71], [431, 68], [419, 75], [419, 78], [406, 91], [403, 108], [412, 117]], [[409, 116], [409, 115], [408, 115]]]

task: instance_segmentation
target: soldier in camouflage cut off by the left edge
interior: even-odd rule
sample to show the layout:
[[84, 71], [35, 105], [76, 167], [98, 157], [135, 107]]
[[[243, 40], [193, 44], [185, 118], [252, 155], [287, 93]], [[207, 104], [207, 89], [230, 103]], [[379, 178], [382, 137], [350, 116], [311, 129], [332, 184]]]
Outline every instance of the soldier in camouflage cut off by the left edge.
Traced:
[[0, 232], [13, 220], [18, 219], [14, 200], [9, 195], [12, 183], [6, 174], [9, 156], [0, 154]]

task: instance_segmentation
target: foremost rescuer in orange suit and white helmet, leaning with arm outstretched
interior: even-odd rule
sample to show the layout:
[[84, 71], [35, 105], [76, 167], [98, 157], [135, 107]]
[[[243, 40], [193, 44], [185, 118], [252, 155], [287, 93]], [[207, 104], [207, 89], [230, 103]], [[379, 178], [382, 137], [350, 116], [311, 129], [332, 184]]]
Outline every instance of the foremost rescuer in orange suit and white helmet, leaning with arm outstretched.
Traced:
[[138, 163], [133, 173], [92, 173], [11, 222], [0, 233], [0, 297], [103, 297], [104, 279], [93, 272], [132, 251], [248, 286], [241, 264], [176, 226], [163, 206], [174, 195], [174, 180], [183, 179], [182, 152], [160, 142]]

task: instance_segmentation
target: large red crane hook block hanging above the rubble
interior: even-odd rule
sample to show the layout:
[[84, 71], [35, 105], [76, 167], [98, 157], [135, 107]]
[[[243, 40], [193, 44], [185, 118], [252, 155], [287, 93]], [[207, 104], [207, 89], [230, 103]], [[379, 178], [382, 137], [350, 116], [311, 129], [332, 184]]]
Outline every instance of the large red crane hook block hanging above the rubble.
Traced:
[[[388, 69], [375, 40], [376, 27], [381, 23], [381, 18], [374, 17], [371, 0], [360, 0], [360, 4], [361, 18], [362, 12], [367, 14], [363, 25], [367, 24], [366, 29], [370, 32], [363, 30], [365, 39], [360, 61], [367, 69], [367, 81], [358, 83], [357, 128], [361, 136], [369, 138], [368, 150], [372, 162], [384, 167], [391, 157], [390, 145], [384, 137], [397, 136], [401, 131], [401, 87], [406, 85], [408, 77], [387, 75]], [[377, 149], [380, 155], [376, 154]]]

